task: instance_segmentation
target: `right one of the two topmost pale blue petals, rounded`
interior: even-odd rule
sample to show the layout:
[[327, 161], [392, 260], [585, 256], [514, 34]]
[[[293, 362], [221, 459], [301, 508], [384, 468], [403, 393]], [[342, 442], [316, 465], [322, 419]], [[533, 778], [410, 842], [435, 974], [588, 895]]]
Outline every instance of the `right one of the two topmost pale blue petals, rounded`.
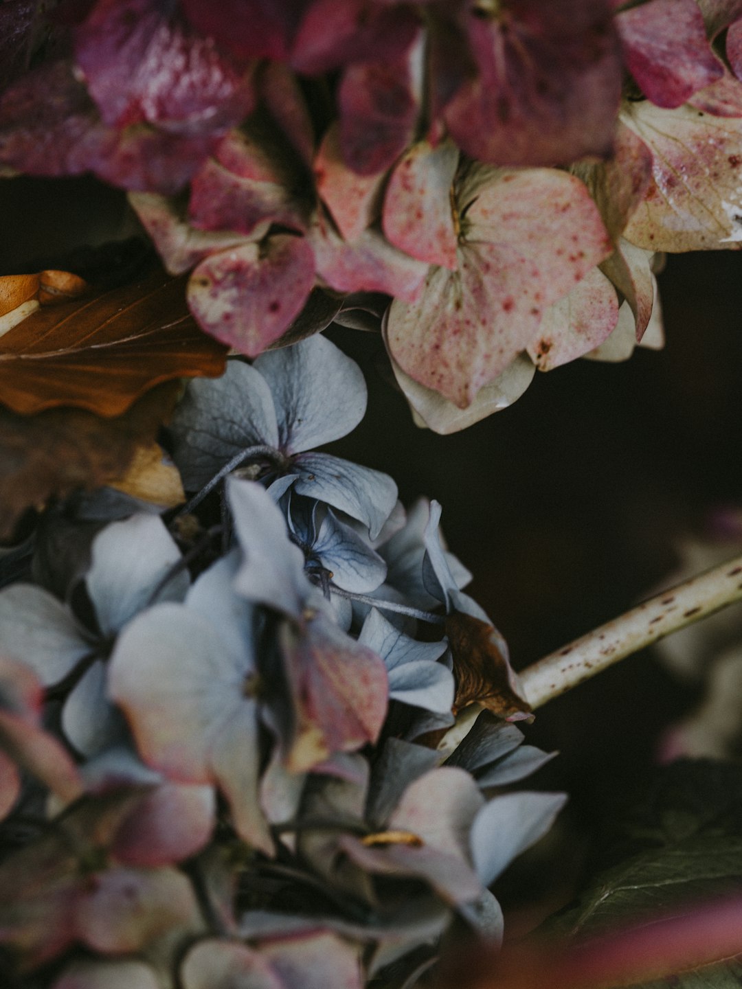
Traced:
[[355, 361], [317, 333], [254, 362], [268, 383], [285, 454], [314, 450], [345, 436], [366, 411], [366, 382]]

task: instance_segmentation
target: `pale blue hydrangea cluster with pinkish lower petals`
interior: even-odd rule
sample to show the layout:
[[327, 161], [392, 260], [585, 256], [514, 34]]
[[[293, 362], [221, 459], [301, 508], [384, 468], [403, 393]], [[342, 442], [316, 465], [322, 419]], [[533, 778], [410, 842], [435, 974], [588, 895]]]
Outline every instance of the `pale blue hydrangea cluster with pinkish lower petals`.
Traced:
[[322, 335], [233, 359], [171, 423], [184, 508], [88, 495], [6, 575], [0, 944], [39, 985], [412, 985], [454, 921], [502, 938], [564, 798], [510, 789], [550, 756], [440, 506], [316, 450], [364, 411]]

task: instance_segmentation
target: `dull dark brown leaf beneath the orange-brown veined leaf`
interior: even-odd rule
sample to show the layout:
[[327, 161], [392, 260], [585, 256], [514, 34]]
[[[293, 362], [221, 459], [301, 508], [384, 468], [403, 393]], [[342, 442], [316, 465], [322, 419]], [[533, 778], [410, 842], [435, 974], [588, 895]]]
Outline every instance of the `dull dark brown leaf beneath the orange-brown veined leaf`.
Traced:
[[166, 382], [110, 418], [81, 408], [18, 415], [0, 406], [0, 539], [27, 508], [121, 478], [139, 448], [152, 443], [179, 393], [179, 382]]

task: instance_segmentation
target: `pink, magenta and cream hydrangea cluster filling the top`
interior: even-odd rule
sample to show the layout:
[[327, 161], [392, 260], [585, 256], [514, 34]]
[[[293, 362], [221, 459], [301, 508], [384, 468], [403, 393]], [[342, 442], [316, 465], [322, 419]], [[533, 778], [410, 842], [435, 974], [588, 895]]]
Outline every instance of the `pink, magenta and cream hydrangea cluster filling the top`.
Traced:
[[168, 270], [193, 269], [200, 325], [248, 356], [383, 316], [398, 382], [440, 432], [509, 405], [535, 368], [657, 346], [655, 252], [742, 237], [736, 4], [42, 16], [0, 11], [0, 166], [130, 190]]

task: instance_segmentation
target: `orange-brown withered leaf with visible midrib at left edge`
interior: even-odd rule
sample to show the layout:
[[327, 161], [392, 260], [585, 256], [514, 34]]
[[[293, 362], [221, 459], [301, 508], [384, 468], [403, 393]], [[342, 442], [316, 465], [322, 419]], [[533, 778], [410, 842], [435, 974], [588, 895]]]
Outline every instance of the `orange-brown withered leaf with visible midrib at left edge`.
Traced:
[[217, 377], [227, 348], [188, 313], [185, 280], [157, 272], [43, 307], [0, 338], [0, 396], [15, 412], [58, 405], [121, 415], [174, 378]]

